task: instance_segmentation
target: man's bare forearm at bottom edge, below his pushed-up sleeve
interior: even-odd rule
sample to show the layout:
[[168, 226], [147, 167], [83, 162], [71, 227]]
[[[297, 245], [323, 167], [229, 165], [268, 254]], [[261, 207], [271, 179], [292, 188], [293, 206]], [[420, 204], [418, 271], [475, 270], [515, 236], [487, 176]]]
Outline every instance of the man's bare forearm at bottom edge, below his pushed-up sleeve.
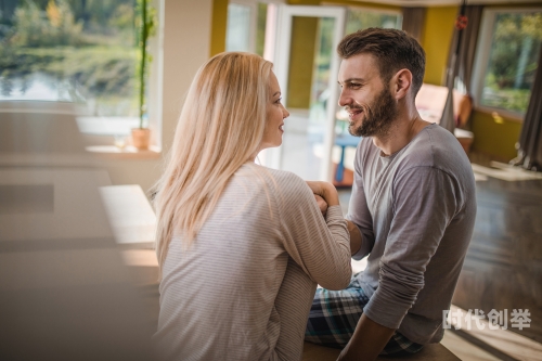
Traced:
[[375, 360], [393, 335], [395, 330], [374, 322], [363, 313], [352, 338], [340, 352], [337, 361]]

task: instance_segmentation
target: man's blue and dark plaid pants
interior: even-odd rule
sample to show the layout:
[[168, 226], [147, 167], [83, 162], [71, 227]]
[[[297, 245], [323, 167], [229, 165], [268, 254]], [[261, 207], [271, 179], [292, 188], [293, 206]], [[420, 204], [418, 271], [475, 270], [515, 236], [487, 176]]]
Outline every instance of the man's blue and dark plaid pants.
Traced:
[[[354, 275], [345, 289], [318, 288], [307, 322], [305, 340], [334, 348], [344, 348], [350, 340], [369, 297]], [[410, 354], [422, 349], [399, 332], [391, 336], [380, 354]]]

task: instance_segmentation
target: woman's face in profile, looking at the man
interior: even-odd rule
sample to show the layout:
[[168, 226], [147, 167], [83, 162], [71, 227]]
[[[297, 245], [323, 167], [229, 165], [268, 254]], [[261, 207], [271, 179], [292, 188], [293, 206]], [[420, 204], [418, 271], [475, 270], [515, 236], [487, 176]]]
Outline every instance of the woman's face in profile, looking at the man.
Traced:
[[281, 103], [281, 87], [276, 76], [271, 72], [269, 76], [269, 99], [266, 116], [266, 129], [261, 140], [260, 150], [279, 146], [282, 144], [284, 133], [284, 118], [289, 116], [288, 111]]

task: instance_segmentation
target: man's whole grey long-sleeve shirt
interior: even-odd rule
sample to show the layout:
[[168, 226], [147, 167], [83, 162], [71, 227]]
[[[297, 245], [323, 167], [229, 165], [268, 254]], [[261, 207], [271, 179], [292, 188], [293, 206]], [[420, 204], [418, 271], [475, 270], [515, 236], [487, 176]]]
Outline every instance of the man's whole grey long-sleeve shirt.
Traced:
[[371, 298], [363, 312], [418, 344], [442, 338], [476, 217], [473, 170], [457, 140], [438, 125], [382, 156], [371, 138], [358, 145], [347, 219], [369, 255], [358, 275]]

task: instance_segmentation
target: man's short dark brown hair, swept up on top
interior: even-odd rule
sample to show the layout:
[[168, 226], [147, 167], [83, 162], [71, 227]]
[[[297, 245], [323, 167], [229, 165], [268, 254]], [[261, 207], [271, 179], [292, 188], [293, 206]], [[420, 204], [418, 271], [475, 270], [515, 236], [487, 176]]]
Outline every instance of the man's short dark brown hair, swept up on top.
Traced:
[[424, 82], [425, 51], [402, 30], [371, 27], [347, 35], [338, 44], [340, 57], [371, 54], [376, 59], [382, 79], [387, 83], [400, 69], [412, 73], [414, 96]]

